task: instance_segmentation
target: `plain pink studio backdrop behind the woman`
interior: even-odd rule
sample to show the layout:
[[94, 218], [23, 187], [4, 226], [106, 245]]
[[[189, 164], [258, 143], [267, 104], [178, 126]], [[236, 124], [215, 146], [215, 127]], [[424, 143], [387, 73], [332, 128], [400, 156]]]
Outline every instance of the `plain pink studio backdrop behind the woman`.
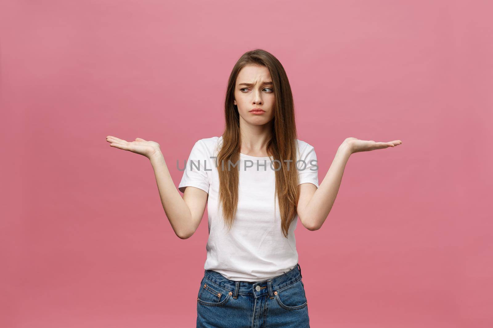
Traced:
[[223, 130], [246, 51], [288, 74], [322, 182], [296, 230], [311, 327], [493, 327], [490, 1], [2, 1], [0, 326], [195, 327], [207, 212], [174, 234], [149, 161]]

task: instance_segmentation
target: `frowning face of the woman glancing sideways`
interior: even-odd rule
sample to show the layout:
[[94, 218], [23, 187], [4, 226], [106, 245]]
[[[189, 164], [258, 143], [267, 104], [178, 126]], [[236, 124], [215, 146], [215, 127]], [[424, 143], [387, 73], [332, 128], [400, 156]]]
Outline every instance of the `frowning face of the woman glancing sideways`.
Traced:
[[[271, 74], [265, 66], [247, 65], [238, 74], [234, 104], [238, 106], [240, 119], [249, 124], [262, 125], [274, 118], [274, 86]], [[260, 108], [263, 112], [252, 111]]]

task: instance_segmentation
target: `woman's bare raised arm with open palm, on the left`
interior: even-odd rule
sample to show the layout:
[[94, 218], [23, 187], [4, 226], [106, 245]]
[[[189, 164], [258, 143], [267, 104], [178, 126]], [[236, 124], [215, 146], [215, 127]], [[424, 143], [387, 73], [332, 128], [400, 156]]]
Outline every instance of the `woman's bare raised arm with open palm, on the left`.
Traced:
[[191, 237], [197, 230], [206, 208], [208, 193], [195, 187], [187, 187], [183, 198], [175, 187], [159, 144], [137, 138], [134, 142], [107, 136], [111, 147], [132, 151], [147, 157], [154, 169], [161, 204], [176, 236]]

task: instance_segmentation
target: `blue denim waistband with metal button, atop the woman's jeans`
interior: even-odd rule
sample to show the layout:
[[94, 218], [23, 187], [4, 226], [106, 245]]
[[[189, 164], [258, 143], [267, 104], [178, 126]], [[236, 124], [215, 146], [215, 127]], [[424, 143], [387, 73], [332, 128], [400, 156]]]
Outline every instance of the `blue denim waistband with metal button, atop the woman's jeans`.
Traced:
[[[222, 274], [213, 270], [205, 270], [204, 275], [212, 283], [233, 293], [233, 298], [241, 295], [253, 295], [255, 298], [268, 295], [274, 298], [274, 291], [287, 287], [301, 279], [301, 267], [298, 264], [277, 277], [263, 281], [234, 281], [226, 279]], [[258, 286], [258, 287], [257, 287]]]

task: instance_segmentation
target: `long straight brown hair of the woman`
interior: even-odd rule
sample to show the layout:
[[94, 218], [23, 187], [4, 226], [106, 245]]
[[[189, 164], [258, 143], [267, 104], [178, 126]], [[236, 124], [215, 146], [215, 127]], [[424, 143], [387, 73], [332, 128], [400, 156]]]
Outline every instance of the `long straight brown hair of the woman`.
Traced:
[[[224, 223], [229, 229], [233, 226], [238, 205], [238, 169], [228, 169], [228, 163], [237, 163], [240, 158], [241, 135], [240, 114], [234, 105], [234, 92], [239, 72], [246, 65], [261, 65], [269, 69], [275, 95], [274, 122], [272, 138], [267, 144], [267, 152], [273, 156], [276, 172], [276, 197], [281, 214], [281, 229], [287, 238], [288, 229], [296, 215], [298, 203], [298, 172], [295, 168], [297, 135], [294, 117], [294, 103], [291, 87], [281, 62], [269, 52], [262, 49], [248, 51], [236, 62], [228, 80], [224, 101], [226, 126], [222, 134], [222, 147], [217, 153], [219, 172], [219, 204], [222, 205]], [[285, 162], [292, 160], [292, 162]], [[225, 169], [222, 169], [224, 163]], [[279, 169], [279, 165], [282, 166]], [[289, 165], [289, 170], [287, 169]], [[279, 169], [279, 170], [278, 170]], [[275, 199], [276, 199], [275, 197]]]

